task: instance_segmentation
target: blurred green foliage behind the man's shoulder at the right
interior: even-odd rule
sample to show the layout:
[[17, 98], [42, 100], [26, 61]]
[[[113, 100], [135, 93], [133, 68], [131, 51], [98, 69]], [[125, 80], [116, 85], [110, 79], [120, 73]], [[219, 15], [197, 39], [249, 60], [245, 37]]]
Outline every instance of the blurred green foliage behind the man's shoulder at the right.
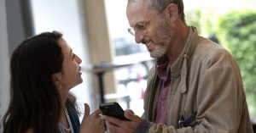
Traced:
[[218, 21], [217, 36], [236, 58], [246, 90], [250, 113], [256, 116], [256, 12], [233, 11]]

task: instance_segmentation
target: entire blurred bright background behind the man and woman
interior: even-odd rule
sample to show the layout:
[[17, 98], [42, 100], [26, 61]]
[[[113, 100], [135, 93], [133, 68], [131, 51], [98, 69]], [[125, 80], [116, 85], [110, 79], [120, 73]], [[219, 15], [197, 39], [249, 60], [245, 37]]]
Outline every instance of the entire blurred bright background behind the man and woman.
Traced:
[[[82, 58], [84, 82], [72, 89], [82, 107], [118, 102], [143, 114], [153, 64], [127, 32], [126, 0], [0, 0], [0, 118], [9, 105], [9, 56], [28, 36], [58, 30]], [[236, 58], [256, 120], [256, 0], [183, 0], [188, 25]], [[83, 107], [82, 107], [83, 110]], [[1, 129], [1, 125], [0, 125]], [[1, 130], [0, 130], [1, 132]]]

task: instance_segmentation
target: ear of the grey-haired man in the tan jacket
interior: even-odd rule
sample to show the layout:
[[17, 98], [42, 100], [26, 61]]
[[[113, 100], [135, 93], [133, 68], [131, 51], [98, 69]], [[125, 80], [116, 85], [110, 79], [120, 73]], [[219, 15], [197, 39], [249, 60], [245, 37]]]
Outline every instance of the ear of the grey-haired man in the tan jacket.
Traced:
[[176, 19], [178, 18], [178, 8], [177, 8], [177, 4], [174, 3], [170, 3], [166, 9], [165, 9], [165, 15], [166, 17], [168, 17], [168, 19], [171, 20], [171, 22], [176, 21]]

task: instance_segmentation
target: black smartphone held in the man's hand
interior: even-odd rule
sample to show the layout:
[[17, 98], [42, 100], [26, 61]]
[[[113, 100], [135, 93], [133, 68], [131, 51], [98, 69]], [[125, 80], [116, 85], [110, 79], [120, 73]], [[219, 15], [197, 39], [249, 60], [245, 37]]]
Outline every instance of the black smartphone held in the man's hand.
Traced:
[[102, 114], [104, 115], [112, 116], [122, 120], [130, 120], [125, 118], [125, 112], [123, 108], [121, 108], [119, 103], [101, 103], [100, 109], [102, 110]]

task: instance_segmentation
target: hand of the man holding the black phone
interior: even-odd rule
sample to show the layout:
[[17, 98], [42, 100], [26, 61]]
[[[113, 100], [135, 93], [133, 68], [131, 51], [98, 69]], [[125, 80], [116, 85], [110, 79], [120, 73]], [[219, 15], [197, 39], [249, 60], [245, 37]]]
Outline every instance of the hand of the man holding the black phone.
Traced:
[[108, 130], [111, 133], [134, 133], [137, 126], [142, 122], [142, 119], [133, 114], [131, 110], [125, 110], [125, 118], [131, 121], [116, 119], [107, 115], [102, 115], [102, 118], [106, 120]]

